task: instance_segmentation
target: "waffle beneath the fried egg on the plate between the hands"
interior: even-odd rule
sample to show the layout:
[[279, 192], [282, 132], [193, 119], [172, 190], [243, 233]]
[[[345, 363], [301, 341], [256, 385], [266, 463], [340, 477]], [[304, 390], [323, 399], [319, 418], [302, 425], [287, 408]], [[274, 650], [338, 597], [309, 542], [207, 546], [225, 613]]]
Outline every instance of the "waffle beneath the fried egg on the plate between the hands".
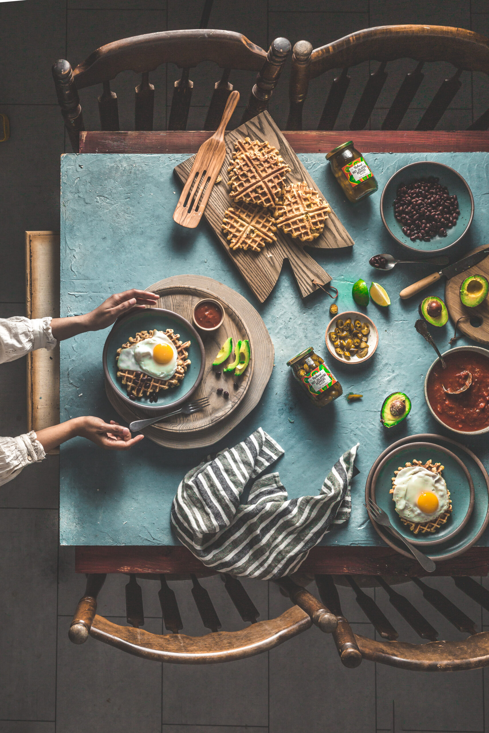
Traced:
[[[150, 339], [155, 335], [156, 331], [156, 328], [154, 331], [139, 331], [134, 339], [130, 336], [128, 343], [122, 344], [122, 347], [117, 349], [116, 361], [119, 361], [119, 355], [122, 349], [128, 349], [133, 344], [144, 341], [144, 339]], [[173, 328], [167, 328], [164, 333], [177, 350], [177, 369], [174, 375], [170, 379], [157, 379], [156, 377], [150, 377], [150, 375], [144, 372], [133, 372], [129, 369], [123, 369], [117, 372], [117, 377], [122, 378], [122, 384], [128, 390], [128, 396], [132, 394], [133, 397], [153, 397], [153, 399], [158, 399], [157, 395], [161, 389], [165, 390], [169, 387], [177, 387], [183, 380], [183, 377], [185, 377], [187, 367], [191, 363], [187, 358], [188, 352], [186, 351], [190, 346], [190, 341], [183, 344], [180, 341], [180, 334], [175, 334]]]

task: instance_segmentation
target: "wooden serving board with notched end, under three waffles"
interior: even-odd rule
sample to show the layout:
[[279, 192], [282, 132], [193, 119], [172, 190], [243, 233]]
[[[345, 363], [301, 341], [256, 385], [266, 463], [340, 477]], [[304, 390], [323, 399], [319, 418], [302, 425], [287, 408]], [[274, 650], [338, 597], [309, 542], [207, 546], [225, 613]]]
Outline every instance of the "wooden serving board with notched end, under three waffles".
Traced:
[[[228, 196], [227, 169], [229, 168], [229, 162], [232, 160], [232, 153], [235, 152], [235, 141], [246, 137], [249, 137], [251, 140], [268, 141], [273, 147], [279, 150], [280, 155], [282, 155], [282, 158], [284, 158], [284, 161], [291, 169], [290, 173], [287, 173], [287, 184], [305, 180], [309, 186], [317, 188], [317, 184], [312, 180], [301, 161], [299, 161], [290, 144], [284, 138], [279, 128], [277, 128], [268, 112], [265, 111], [257, 117], [250, 119], [249, 122], [241, 125], [236, 130], [232, 130], [232, 132], [226, 134], [226, 158], [224, 158], [224, 164], [221, 168], [222, 182], [214, 185], [207, 206], [205, 207], [204, 216], [210, 226], [212, 226], [214, 232], [216, 232], [218, 240], [227, 252], [228, 257], [235, 263], [261, 303], [268, 298], [276, 281], [279, 279], [284, 259], [289, 260], [301, 295], [305, 298], [306, 295], [310, 295], [318, 289], [317, 284], [314, 284], [313, 280], [317, 280], [320, 284], [326, 285], [331, 281], [331, 277], [317, 264], [315, 259], [307, 254], [304, 246], [315, 249], [337, 249], [353, 246], [353, 239], [341, 221], [339, 221], [334, 211], [331, 210], [323, 232], [312, 242], [300, 243], [298, 239], [284, 235], [278, 229], [276, 232], [276, 242], [270, 246], [266, 246], [259, 253], [249, 250], [244, 251], [242, 249], [232, 250], [229, 248], [229, 242], [221, 230], [224, 213], [233, 204], [232, 199], [229, 199]], [[180, 163], [174, 169], [182, 183], [185, 183], [187, 180], [194, 159], [195, 155], [188, 158], [188, 161], [185, 161], [185, 163]]]

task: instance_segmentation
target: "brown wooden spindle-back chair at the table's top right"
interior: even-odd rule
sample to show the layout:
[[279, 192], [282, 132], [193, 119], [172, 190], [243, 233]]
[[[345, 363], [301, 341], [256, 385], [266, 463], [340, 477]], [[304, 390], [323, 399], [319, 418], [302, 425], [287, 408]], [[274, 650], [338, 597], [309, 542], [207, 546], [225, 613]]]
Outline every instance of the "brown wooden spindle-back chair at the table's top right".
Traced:
[[[302, 108], [309, 81], [326, 71], [341, 69], [331, 84], [317, 125], [318, 130], [332, 130], [350, 84], [348, 69], [375, 60], [380, 65], [369, 75], [350, 122], [350, 130], [363, 130], [385, 84], [387, 64], [404, 58], [414, 59], [418, 64], [402, 81], [381, 129], [399, 128], [423, 81], [425, 63], [449, 62], [455, 67], [455, 73], [441, 84], [416, 125], [416, 130], [434, 130], [462, 86], [459, 78], [462, 71], [489, 73], [489, 40], [477, 33], [448, 26], [380, 26], [352, 33], [314, 51], [307, 41], [298, 41], [292, 57], [287, 130], [302, 130]], [[488, 127], [489, 109], [468, 130], [487, 130]]]

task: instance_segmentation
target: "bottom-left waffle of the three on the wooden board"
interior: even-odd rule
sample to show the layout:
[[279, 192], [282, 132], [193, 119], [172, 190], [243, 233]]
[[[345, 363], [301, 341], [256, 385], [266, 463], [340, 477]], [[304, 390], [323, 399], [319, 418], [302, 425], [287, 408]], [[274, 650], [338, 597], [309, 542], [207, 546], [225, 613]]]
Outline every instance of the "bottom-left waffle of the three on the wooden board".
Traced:
[[265, 244], [276, 241], [275, 220], [267, 209], [253, 204], [235, 204], [227, 209], [222, 222], [231, 249], [260, 252]]

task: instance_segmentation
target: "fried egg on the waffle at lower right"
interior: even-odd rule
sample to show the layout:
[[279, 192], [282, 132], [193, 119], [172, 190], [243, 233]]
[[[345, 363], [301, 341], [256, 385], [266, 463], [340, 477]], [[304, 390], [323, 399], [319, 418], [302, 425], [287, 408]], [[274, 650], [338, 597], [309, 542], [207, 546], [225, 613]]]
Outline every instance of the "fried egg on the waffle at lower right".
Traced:
[[401, 468], [394, 481], [392, 498], [396, 512], [411, 522], [430, 522], [449, 508], [445, 480], [422, 465]]

